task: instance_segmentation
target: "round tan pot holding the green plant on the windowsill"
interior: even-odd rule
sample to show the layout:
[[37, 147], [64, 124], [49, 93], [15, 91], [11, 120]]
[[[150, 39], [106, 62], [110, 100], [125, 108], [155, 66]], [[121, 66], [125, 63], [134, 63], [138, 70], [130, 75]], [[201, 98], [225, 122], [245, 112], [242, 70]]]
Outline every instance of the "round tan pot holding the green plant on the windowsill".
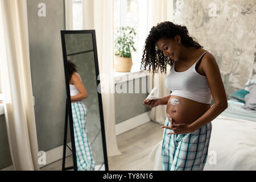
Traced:
[[114, 56], [114, 70], [116, 72], [130, 72], [133, 61], [131, 57]]

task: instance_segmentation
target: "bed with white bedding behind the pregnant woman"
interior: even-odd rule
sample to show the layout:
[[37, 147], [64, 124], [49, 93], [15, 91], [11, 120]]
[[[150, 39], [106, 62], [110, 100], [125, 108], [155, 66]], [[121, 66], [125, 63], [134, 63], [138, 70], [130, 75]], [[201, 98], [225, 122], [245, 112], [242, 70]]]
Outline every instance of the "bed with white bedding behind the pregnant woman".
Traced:
[[[256, 170], [256, 110], [245, 110], [243, 103], [228, 100], [228, 108], [212, 121], [205, 171]], [[154, 170], [161, 170], [162, 140], [149, 158]]]

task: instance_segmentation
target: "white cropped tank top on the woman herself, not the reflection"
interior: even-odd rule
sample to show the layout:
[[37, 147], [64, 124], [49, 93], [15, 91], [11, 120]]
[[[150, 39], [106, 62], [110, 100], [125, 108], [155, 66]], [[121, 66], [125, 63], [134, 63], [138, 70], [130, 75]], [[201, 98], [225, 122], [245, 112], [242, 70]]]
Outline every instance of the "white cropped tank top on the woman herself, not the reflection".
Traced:
[[[205, 53], [208, 52], [204, 52], [197, 61], [200, 61]], [[210, 104], [212, 94], [207, 78], [196, 72], [196, 63], [184, 72], [176, 72], [174, 61], [170, 73], [165, 80], [166, 87], [172, 91], [172, 96], [180, 96], [204, 104]]]

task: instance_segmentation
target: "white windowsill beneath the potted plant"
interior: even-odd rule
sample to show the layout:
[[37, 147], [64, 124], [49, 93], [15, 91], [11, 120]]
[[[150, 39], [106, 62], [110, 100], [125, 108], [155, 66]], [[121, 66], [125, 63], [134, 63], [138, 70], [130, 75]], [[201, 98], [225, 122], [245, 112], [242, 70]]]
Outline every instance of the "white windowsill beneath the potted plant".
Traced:
[[141, 71], [140, 63], [133, 64], [130, 72], [115, 72], [114, 71], [115, 84], [118, 84], [121, 82], [127, 82], [127, 81], [130, 81], [133, 79], [142, 78], [142, 77], [151, 75], [151, 73], [148, 73], [145, 71], [140, 73], [140, 71]]

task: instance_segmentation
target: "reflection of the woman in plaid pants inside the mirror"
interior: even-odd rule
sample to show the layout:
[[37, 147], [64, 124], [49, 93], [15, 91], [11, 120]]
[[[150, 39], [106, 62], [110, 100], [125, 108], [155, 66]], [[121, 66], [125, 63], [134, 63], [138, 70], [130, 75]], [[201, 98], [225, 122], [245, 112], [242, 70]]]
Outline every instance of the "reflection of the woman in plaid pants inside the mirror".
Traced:
[[75, 135], [76, 159], [78, 171], [94, 171], [94, 159], [86, 132], [87, 107], [82, 102], [88, 97], [76, 65], [68, 60], [69, 88]]

